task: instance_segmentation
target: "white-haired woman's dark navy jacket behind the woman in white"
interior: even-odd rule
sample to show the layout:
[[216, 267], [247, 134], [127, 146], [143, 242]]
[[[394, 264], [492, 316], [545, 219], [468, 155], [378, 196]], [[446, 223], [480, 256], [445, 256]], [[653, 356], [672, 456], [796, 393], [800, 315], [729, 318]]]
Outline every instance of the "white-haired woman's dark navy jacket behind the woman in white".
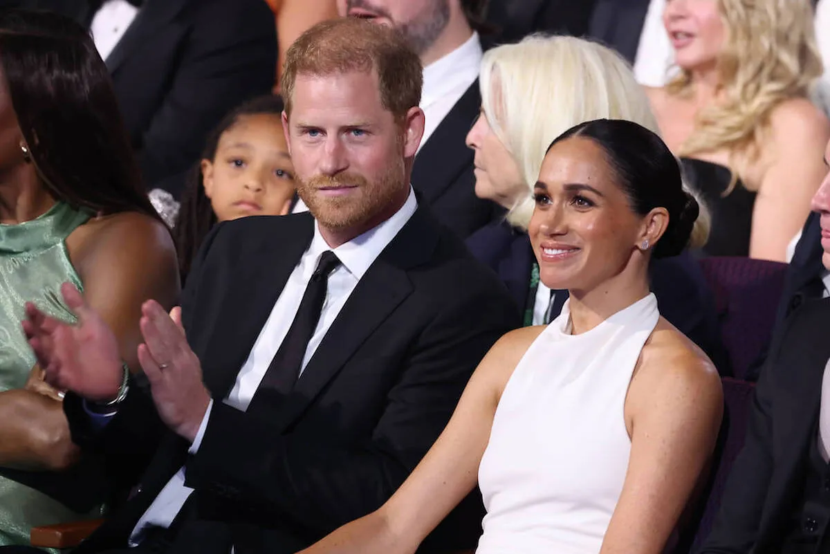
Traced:
[[[476, 232], [467, 239], [466, 245], [476, 258], [496, 271], [515, 304], [524, 310], [530, 290], [530, 268], [535, 260], [527, 234], [502, 221]], [[683, 252], [671, 258], [652, 260], [649, 270], [660, 313], [700, 346], [721, 372], [728, 373], [715, 299], [691, 254]], [[568, 291], [560, 292], [562, 294], [556, 300], [564, 304]]]

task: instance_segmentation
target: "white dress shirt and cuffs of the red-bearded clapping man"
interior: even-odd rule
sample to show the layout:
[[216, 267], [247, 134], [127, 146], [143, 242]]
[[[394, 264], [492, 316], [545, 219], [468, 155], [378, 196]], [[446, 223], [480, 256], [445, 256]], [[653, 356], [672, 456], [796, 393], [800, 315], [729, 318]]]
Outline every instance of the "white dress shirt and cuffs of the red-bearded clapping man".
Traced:
[[[395, 215], [383, 221], [374, 229], [366, 231], [363, 235], [333, 250], [342, 265], [339, 265], [329, 275], [325, 301], [320, 311], [320, 321], [317, 323], [314, 335], [312, 335], [308, 347], [305, 349], [305, 357], [303, 358], [302, 367], [300, 367], [300, 378], [305, 366], [314, 355], [317, 347], [320, 346], [320, 341], [323, 340], [325, 333], [334, 323], [334, 319], [337, 318], [340, 309], [349, 299], [349, 295], [354, 291], [358, 281], [369, 270], [369, 266], [374, 263], [374, 260], [378, 258], [378, 255], [389, 242], [398, 235], [398, 231], [403, 229], [403, 226], [415, 213], [416, 208], [415, 192], [410, 188], [406, 203]], [[262, 378], [265, 377], [268, 366], [271, 365], [271, 359], [276, 355], [283, 339], [286, 338], [295, 314], [300, 309], [300, 300], [305, 294], [305, 287], [311, 279], [311, 274], [317, 268], [320, 255], [326, 250], [332, 249], [326, 244], [323, 236], [320, 235], [319, 227], [315, 225], [314, 238], [311, 240], [308, 250], [305, 250], [305, 253], [300, 257], [300, 263], [291, 272], [285, 288], [282, 289], [280, 297], [276, 299], [271, 315], [268, 316], [265, 326], [262, 328], [259, 337], [256, 338], [256, 343], [251, 348], [251, 353], [248, 355], [246, 362], [242, 364], [242, 369], [237, 375], [236, 384], [223, 401], [228, 406], [233, 406], [242, 411], [247, 410], [256, 389], [259, 388]], [[202, 443], [212, 406], [213, 401], [207, 408], [202, 425], [199, 426], [196, 440], [193, 441], [193, 446], [190, 448], [191, 454], [195, 454]], [[146, 527], [170, 527], [173, 519], [176, 518], [192, 492], [193, 488], [184, 486], [184, 468], [179, 469], [178, 473], [173, 475], [173, 479], [170, 479], [168, 484], [164, 486], [159, 496], [155, 498], [147, 512], [139, 519], [132, 535], [129, 537], [130, 545], [136, 546], [141, 542]]]

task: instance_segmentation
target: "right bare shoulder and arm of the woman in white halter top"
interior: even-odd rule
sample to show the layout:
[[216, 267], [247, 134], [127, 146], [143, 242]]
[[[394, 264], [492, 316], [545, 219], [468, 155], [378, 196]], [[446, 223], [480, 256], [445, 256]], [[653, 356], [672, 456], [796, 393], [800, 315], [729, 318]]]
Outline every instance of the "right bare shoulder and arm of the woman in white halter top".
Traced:
[[720, 377], [702, 352], [677, 350], [644, 350], [632, 379], [626, 401], [631, 457], [601, 554], [663, 552], [715, 448]]

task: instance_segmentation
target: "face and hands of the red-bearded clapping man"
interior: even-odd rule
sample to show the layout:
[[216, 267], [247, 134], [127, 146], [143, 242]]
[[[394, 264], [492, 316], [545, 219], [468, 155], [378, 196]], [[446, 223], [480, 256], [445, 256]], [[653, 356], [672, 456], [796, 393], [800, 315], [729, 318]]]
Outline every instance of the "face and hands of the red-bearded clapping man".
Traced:
[[[409, 194], [409, 177], [423, 134], [417, 106], [398, 119], [383, 108], [378, 75], [350, 72], [298, 75], [293, 110], [283, 114], [298, 192], [315, 216], [320, 235], [336, 248], [388, 219]], [[75, 327], [29, 310], [25, 329], [46, 380], [91, 400], [112, 399], [120, 370], [115, 339], [85, 298], [69, 286]], [[154, 300], [142, 307], [144, 343], [138, 357], [164, 423], [193, 442], [211, 401], [202, 367], [188, 346], [179, 309], [168, 315]], [[80, 363], [94, 359], [96, 371]]]

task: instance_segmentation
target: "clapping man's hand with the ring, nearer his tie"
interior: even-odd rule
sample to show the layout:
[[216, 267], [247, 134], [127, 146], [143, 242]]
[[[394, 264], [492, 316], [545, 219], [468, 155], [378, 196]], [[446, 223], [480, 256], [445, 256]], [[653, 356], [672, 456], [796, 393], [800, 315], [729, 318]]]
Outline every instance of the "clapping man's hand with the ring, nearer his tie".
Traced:
[[182, 309], [168, 313], [149, 300], [141, 307], [144, 344], [139, 362], [144, 368], [159, 416], [170, 429], [191, 443], [202, 425], [210, 392], [202, 382], [202, 366], [188, 345]]

